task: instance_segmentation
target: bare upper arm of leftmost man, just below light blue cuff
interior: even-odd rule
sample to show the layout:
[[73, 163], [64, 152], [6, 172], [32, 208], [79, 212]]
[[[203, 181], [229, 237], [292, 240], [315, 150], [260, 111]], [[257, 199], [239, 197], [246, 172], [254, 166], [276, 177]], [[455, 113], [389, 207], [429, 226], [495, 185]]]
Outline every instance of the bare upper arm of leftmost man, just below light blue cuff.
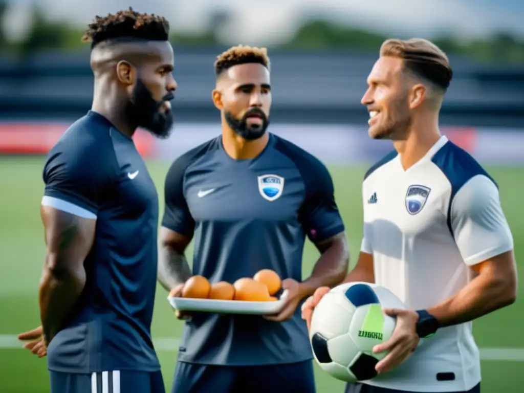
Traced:
[[48, 266], [74, 269], [83, 265], [95, 238], [96, 220], [42, 205]]

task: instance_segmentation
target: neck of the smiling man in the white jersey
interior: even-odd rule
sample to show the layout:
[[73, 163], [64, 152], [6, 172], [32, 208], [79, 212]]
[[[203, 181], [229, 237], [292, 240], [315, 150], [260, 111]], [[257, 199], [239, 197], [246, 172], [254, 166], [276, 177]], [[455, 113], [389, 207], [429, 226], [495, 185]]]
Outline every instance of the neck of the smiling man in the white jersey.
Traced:
[[404, 170], [424, 157], [441, 137], [438, 114], [420, 117], [413, 118], [405, 138], [393, 140], [393, 146], [398, 151]]

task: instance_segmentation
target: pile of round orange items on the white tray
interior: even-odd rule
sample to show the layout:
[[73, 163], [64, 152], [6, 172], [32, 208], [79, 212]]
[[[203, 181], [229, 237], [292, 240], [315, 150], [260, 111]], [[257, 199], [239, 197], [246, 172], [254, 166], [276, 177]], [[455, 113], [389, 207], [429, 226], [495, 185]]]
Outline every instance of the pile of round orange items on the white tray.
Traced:
[[253, 278], [239, 278], [233, 284], [220, 281], [211, 284], [203, 276], [193, 276], [185, 282], [183, 298], [240, 300], [240, 301], [276, 301], [274, 295], [281, 288], [281, 279], [270, 269], [257, 272]]

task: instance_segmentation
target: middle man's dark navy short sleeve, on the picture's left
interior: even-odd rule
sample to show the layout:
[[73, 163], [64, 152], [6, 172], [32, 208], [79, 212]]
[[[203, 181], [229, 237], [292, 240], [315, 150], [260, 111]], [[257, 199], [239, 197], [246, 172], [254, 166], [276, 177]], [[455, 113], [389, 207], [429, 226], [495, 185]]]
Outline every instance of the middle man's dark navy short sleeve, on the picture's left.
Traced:
[[188, 162], [183, 158], [175, 160], [166, 175], [162, 226], [181, 235], [191, 236], [195, 222], [184, 196], [184, 176]]

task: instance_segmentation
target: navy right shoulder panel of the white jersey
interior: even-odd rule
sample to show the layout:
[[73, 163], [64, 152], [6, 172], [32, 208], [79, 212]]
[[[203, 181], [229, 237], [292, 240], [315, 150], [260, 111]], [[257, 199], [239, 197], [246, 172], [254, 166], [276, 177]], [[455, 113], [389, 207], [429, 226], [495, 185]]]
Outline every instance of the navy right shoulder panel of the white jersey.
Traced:
[[450, 182], [451, 198], [466, 184], [468, 184], [468, 188], [498, 188], [495, 180], [489, 176], [477, 160], [451, 141], [447, 141], [431, 160]]

